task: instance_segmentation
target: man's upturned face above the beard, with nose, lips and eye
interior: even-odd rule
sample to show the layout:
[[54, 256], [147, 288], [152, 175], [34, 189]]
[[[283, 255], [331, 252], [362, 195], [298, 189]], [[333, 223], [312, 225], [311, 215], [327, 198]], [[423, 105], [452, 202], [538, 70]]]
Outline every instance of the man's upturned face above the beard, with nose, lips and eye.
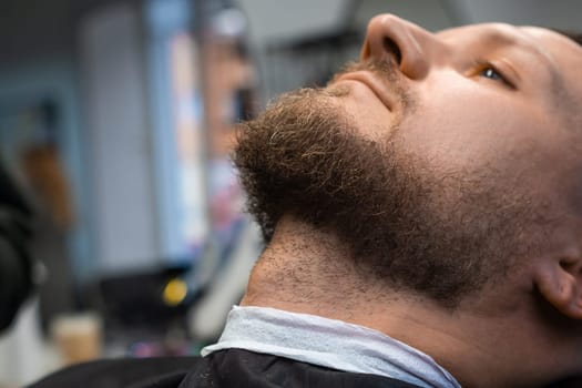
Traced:
[[[515, 175], [535, 164], [537, 174], [553, 175], [557, 165], [572, 163], [564, 153], [580, 143], [582, 48], [565, 37], [506, 24], [432, 34], [379, 16], [369, 24], [361, 60], [398, 70], [392, 81], [350, 71], [330, 86], [349, 85], [350, 98], [340, 104], [370, 139], [394, 136], [443, 173], [488, 163]], [[412, 110], [402, 105], [401, 90], [411, 95]], [[390, 133], [395, 127], [398, 133]]]

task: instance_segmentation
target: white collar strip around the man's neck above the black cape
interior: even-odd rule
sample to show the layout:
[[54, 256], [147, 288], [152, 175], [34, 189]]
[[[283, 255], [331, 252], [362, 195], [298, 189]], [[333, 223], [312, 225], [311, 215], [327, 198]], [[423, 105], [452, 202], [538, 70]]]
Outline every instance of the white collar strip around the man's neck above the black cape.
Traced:
[[337, 370], [395, 378], [427, 388], [460, 388], [430, 356], [367, 327], [265, 307], [233, 307], [217, 344]]

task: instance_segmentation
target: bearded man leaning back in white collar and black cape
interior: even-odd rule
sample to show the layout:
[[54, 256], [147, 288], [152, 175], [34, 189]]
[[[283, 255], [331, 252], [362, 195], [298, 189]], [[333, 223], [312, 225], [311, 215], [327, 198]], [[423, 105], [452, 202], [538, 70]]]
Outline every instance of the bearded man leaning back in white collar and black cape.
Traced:
[[268, 244], [221, 340], [156, 387], [580, 375], [580, 69], [544, 29], [372, 19], [359, 63], [243, 125]]

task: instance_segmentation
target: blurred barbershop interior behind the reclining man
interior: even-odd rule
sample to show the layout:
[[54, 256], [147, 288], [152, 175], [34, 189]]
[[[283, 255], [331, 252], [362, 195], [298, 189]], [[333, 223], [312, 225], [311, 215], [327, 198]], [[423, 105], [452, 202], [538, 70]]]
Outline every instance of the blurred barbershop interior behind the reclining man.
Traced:
[[1, 0], [0, 161], [39, 265], [0, 334], [0, 387], [215, 340], [262, 249], [234, 124], [325, 84], [381, 12], [582, 29], [575, 0]]

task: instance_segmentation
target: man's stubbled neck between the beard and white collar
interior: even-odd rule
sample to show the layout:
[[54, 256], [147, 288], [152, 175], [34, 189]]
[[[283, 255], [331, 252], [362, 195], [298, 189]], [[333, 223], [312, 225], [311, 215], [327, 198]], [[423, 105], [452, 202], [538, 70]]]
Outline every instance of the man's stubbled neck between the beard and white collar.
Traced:
[[494, 309], [479, 302], [451, 312], [426, 297], [390, 289], [366, 276], [356, 262], [333, 234], [284, 218], [253, 269], [241, 304], [376, 329], [428, 354], [463, 387], [535, 387], [517, 379], [550, 379], [542, 355], [534, 365], [540, 344], [532, 341], [531, 317], [517, 296], [507, 297], [518, 295], [515, 290], [497, 287], [504, 303]]

